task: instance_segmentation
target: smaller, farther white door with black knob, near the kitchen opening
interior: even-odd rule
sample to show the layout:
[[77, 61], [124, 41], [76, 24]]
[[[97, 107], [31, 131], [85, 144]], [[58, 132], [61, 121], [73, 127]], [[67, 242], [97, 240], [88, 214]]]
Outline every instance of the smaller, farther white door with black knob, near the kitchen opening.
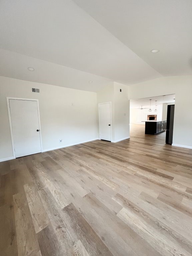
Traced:
[[99, 133], [101, 140], [111, 141], [111, 103], [99, 104]]

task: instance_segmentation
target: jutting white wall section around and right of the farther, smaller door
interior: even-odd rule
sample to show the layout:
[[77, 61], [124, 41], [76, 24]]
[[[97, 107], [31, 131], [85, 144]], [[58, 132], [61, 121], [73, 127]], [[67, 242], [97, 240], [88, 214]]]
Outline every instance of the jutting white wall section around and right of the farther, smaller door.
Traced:
[[[120, 89], [122, 90], [120, 92]], [[129, 138], [129, 100], [127, 85], [112, 82], [97, 92], [97, 102], [111, 102], [112, 142]]]

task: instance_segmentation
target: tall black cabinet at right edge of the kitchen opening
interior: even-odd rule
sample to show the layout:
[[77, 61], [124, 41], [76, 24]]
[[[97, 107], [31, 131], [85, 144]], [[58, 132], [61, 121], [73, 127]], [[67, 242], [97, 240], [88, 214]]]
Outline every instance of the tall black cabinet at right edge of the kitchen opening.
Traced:
[[167, 106], [167, 129], [166, 129], [166, 139], [165, 139], [165, 142], [167, 144], [172, 144], [173, 142], [174, 110], [175, 110], [175, 105]]

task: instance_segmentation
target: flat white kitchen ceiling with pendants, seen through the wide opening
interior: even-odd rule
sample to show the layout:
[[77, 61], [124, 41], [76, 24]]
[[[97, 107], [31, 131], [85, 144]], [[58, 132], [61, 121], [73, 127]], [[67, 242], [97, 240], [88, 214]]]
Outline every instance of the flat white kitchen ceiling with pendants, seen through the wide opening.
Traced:
[[151, 106], [155, 105], [155, 101], [157, 100], [157, 105], [162, 103], [175, 103], [175, 94], [169, 94], [164, 96], [157, 96], [157, 97], [150, 97], [150, 98], [143, 98], [138, 100], [130, 100], [130, 108], [149, 108], [150, 106], [150, 99], [151, 99]]

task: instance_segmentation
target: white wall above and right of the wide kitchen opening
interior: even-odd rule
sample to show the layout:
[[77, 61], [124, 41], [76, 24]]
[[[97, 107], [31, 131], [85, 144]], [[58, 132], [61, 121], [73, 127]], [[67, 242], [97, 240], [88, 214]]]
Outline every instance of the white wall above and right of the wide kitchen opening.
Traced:
[[173, 145], [192, 148], [192, 76], [161, 77], [130, 86], [129, 99], [175, 94]]

